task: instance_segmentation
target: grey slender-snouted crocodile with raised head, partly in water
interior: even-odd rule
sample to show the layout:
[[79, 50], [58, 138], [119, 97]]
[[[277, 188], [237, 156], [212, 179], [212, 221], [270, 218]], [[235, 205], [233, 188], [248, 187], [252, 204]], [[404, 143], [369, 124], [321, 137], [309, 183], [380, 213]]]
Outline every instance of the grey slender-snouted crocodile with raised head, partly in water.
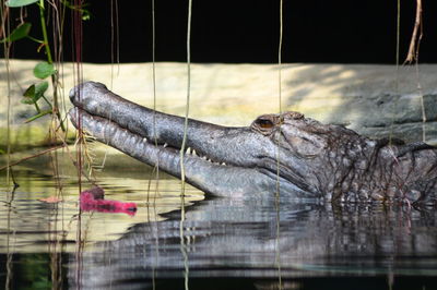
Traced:
[[222, 126], [139, 106], [95, 82], [70, 99], [76, 128], [174, 177], [184, 171], [209, 194], [436, 204], [437, 148], [422, 142], [373, 140], [295, 111]]

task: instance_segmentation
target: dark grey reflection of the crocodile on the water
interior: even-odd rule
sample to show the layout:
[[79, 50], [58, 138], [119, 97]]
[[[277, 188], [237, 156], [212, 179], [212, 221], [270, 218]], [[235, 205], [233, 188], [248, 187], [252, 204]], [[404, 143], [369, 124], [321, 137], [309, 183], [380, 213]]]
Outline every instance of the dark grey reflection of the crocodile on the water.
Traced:
[[[277, 263], [281, 277], [287, 278], [437, 275], [435, 212], [282, 201], [277, 234], [272, 205], [274, 201], [211, 198], [191, 206], [182, 230], [189, 276], [277, 278]], [[145, 287], [153, 275], [182, 278], [178, 215], [135, 225], [119, 240], [85, 252], [81, 286]]]

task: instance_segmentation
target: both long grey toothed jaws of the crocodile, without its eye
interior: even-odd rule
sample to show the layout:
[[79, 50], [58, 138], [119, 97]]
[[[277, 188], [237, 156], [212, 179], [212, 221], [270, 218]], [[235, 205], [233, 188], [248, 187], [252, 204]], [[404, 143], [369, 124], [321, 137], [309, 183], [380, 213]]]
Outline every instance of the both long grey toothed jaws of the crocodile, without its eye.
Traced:
[[[70, 118], [76, 128], [81, 124], [97, 141], [180, 178], [184, 118], [130, 102], [93, 82], [72, 88], [70, 99], [75, 106]], [[275, 148], [273, 142], [249, 128], [189, 119], [184, 155], [186, 181], [216, 195], [274, 195], [280, 184], [281, 193], [288, 197], [308, 197], [293, 170], [281, 170], [276, 176]], [[286, 156], [280, 157], [293, 165]]]

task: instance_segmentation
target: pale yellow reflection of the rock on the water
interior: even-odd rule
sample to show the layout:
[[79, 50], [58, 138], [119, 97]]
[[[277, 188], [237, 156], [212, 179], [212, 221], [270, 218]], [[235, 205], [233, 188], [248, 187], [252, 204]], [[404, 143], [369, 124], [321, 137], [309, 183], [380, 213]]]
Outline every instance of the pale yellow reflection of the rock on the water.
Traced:
[[[132, 225], [162, 220], [164, 218], [161, 214], [180, 207], [179, 193], [174, 190], [175, 186], [180, 190], [180, 185], [175, 180], [161, 180], [162, 190], [158, 196], [154, 197], [152, 189], [152, 198], [147, 203], [144, 190], [147, 188], [147, 180], [103, 178], [99, 181], [105, 186], [106, 198], [135, 203], [135, 215], [83, 212], [79, 216], [79, 189], [74, 177], [64, 178], [59, 195], [52, 177], [28, 171], [22, 173], [23, 176], [17, 177], [20, 188], [11, 204], [7, 202], [7, 191], [0, 191], [0, 253], [7, 251], [7, 233], [14, 234], [11, 240], [14, 252], [74, 252], [78, 229], [85, 239], [85, 250], [88, 250], [97, 241], [118, 239]], [[91, 186], [92, 184], [83, 184], [83, 188]], [[187, 205], [203, 198], [199, 191], [187, 190]], [[62, 202], [40, 202], [49, 196], [59, 196]]]

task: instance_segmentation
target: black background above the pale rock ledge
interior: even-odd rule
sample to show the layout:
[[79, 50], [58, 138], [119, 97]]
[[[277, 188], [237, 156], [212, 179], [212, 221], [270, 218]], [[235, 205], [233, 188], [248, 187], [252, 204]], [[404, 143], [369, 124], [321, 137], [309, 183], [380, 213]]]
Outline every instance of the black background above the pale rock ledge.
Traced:
[[[83, 23], [82, 61], [152, 60], [151, 0], [86, 2], [92, 17]], [[277, 62], [279, 0], [192, 2], [192, 62]], [[423, 0], [422, 63], [437, 62], [436, 2]], [[398, 0], [284, 0], [283, 62], [395, 63], [397, 4]], [[415, 0], [401, 0], [401, 62], [413, 32], [415, 4]], [[39, 37], [37, 11], [33, 9], [28, 8], [27, 21], [34, 24], [32, 35]], [[111, 44], [111, 14], [116, 11], [118, 23], [114, 17]], [[187, 0], [155, 0], [156, 61], [186, 61], [187, 13]], [[64, 41], [63, 58], [70, 61], [69, 23]], [[11, 57], [44, 58], [36, 49], [35, 43], [20, 40]]]

